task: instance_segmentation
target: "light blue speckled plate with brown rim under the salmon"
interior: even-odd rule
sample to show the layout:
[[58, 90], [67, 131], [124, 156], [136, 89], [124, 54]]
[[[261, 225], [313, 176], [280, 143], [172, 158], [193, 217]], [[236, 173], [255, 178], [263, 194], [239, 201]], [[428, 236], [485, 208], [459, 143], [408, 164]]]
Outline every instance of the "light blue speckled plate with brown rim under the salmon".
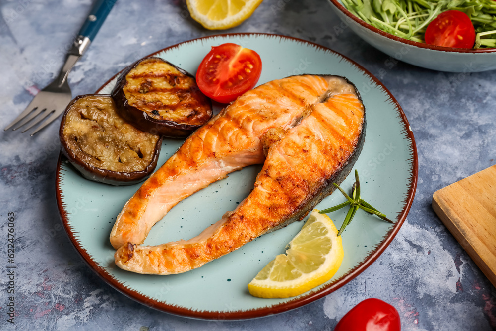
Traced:
[[[193, 318], [245, 319], [275, 314], [310, 303], [356, 277], [384, 251], [406, 218], [417, 184], [417, 151], [410, 126], [396, 100], [368, 71], [347, 58], [307, 41], [277, 35], [231, 34], [206, 37], [164, 49], [156, 56], [195, 73], [211, 46], [232, 42], [255, 50], [263, 63], [259, 83], [292, 74], [346, 76], [359, 89], [367, 116], [364, 149], [355, 168], [361, 174], [362, 197], [395, 220], [391, 225], [359, 211], [343, 233], [345, 258], [327, 283], [289, 299], [260, 299], [247, 284], [300, 231], [303, 222], [257, 238], [239, 250], [196, 270], [155, 276], [127, 272], [114, 265], [109, 235], [124, 203], [139, 185], [116, 187], [84, 179], [63, 157], [57, 165], [57, 197], [64, 227], [83, 259], [125, 295], [147, 306]], [[115, 77], [100, 93], [109, 93]], [[219, 111], [219, 109], [216, 109]], [[164, 139], [159, 165], [182, 141]], [[247, 167], [211, 184], [175, 206], [157, 223], [146, 245], [189, 239], [234, 210], [253, 187], [261, 166]], [[350, 190], [353, 176], [343, 182]], [[336, 193], [318, 209], [344, 202]], [[330, 214], [339, 228], [346, 211]]]

